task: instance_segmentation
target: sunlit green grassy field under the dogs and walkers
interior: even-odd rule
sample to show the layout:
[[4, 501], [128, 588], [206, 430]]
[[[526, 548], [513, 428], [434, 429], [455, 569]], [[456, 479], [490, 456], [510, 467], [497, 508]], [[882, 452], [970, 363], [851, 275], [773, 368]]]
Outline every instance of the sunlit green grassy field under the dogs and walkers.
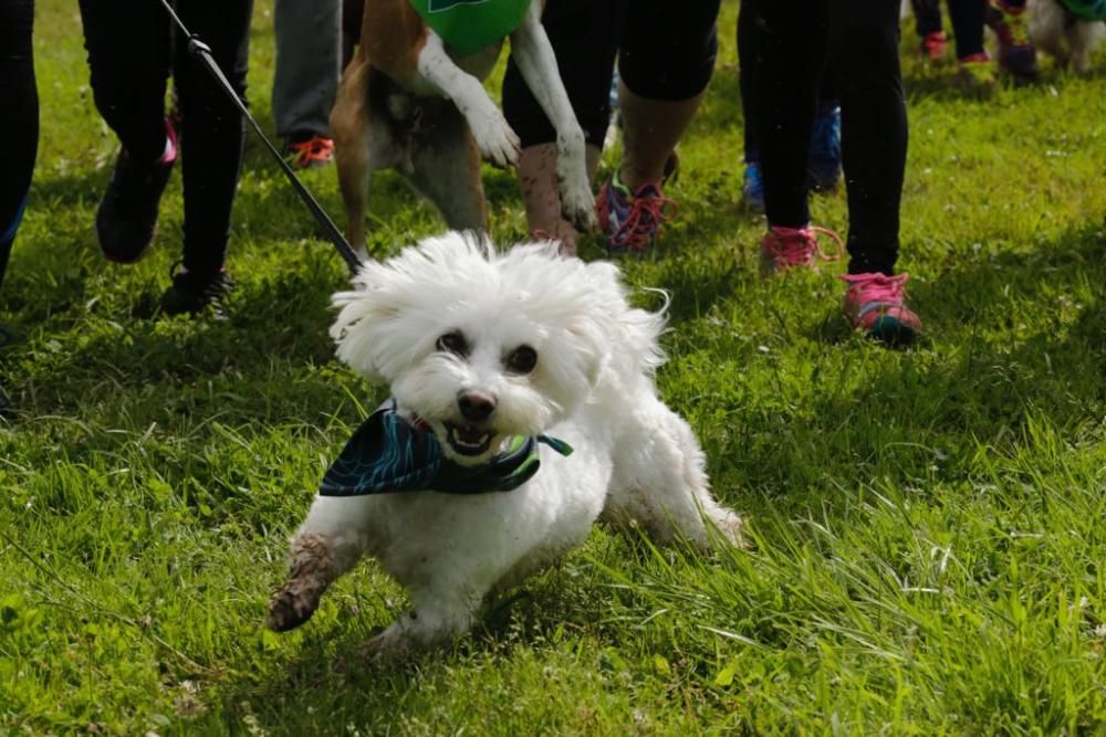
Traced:
[[[357, 645], [404, 594], [373, 565], [302, 630], [261, 627], [286, 536], [382, 397], [332, 357], [343, 264], [251, 138], [231, 318], [149, 319], [179, 177], [154, 253], [103, 261], [116, 144], [75, 3], [38, 4], [42, 145], [0, 293], [20, 337], [0, 354], [0, 735], [1106, 730], [1106, 57], [987, 102], [908, 59], [901, 267], [928, 337], [889, 351], [842, 324], [839, 264], [757, 275], [727, 2], [680, 217], [626, 267], [672, 295], [661, 391], [755, 549], [596, 529], [471, 640], [379, 667]], [[271, 128], [269, 10], [250, 98]], [[341, 218], [333, 170], [307, 181]], [[487, 181], [493, 234], [522, 238], [513, 178]], [[814, 211], [847, 228], [843, 193]], [[440, 228], [394, 176], [373, 220], [378, 255]]]

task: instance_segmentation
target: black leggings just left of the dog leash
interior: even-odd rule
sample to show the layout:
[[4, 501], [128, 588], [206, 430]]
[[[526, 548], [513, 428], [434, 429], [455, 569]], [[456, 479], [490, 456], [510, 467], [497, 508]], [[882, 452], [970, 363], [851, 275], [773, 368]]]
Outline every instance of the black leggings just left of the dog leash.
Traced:
[[[252, 0], [174, 4], [244, 96]], [[165, 91], [171, 67], [180, 114], [185, 267], [221, 267], [242, 164], [241, 115], [171, 32], [157, 0], [80, 0], [80, 6], [96, 108], [123, 148], [139, 160], [154, 161], [165, 149]]]

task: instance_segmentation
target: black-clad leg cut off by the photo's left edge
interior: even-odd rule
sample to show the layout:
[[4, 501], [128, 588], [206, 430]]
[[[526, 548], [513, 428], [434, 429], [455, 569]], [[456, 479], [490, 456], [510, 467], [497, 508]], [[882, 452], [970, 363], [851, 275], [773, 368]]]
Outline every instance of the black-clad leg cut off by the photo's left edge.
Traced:
[[39, 93], [31, 30], [34, 0], [0, 0], [0, 283], [31, 187], [39, 148]]

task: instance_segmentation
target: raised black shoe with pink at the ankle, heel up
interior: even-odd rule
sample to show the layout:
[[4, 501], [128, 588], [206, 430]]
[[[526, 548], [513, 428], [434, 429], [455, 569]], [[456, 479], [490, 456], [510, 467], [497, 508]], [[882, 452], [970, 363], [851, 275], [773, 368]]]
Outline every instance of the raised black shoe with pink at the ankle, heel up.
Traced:
[[146, 253], [157, 230], [157, 209], [177, 160], [177, 133], [165, 122], [165, 152], [156, 161], [136, 161], [125, 149], [96, 208], [96, 236], [108, 261], [132, 264]]

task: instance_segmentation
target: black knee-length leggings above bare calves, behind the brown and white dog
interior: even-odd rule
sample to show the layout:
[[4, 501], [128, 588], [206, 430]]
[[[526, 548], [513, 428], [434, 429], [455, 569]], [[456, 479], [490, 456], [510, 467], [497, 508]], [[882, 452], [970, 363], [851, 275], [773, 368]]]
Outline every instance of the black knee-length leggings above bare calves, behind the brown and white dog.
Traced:
[[[603, 145], [611, 122], [615, 55], [623, 83], [648, 99], [690, 99], [707, 88], [718, 52], [719, 0], [549, 0], [542, 25], [553, 44], [587, 143]], [[503, 113], [523, 147], [556, 133], [510, 60]]]

